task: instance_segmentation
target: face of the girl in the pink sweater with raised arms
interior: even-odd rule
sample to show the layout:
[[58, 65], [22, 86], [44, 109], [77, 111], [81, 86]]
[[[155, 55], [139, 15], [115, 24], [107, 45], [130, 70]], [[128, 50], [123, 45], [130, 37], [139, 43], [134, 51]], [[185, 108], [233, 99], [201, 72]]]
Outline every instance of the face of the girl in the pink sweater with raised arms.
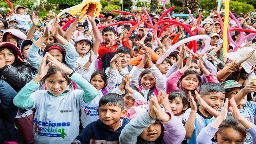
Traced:
[[199, 86], [199, 81], [196, 74], [188, 74], [186, 77], [180, 80], [179, 83], [182, 85], [183, 89], [188, 91], [194, 91]]

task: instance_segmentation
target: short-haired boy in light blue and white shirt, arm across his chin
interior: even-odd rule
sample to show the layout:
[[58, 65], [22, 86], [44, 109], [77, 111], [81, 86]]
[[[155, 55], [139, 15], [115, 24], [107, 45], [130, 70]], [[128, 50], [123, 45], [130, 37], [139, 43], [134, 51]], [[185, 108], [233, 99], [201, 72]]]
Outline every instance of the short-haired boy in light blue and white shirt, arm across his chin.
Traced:
[[[182, 118], [182, 123], [185, 124], [186, 139], [188, 144], [196, 144], [196, 137], [215, 117], [218, 116], [218, 111], [224, 104], [225, 89], [219, 83], [208, 82], [204, 83], [196, 93], [196, 99], [199, 101], [197, 110], [187, 109]], [[190, 119], [188, 119], [191, 117]], [[194, 118], [193, 118], [194, 117]]]

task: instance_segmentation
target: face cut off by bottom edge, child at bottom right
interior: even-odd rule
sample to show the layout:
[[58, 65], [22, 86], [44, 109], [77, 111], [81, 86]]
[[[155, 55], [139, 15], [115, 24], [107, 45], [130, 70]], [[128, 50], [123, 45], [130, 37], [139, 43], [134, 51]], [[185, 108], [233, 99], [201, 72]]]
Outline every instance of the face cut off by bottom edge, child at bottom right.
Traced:
[[216, 133], [218, 144], [243, 144], [245, 137], [233, 128], [225, 128]]

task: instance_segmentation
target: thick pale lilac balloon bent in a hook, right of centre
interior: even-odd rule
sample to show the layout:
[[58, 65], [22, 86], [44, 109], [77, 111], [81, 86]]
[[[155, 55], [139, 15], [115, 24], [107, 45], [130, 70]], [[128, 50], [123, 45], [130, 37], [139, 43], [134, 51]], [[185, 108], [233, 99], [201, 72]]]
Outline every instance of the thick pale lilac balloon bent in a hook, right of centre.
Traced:
[[206, 39], [206, 44], [203, 48], [203, 50], [201, 51], [201, 54], [204, 54], [207, 50], [208, 47], [210, 46], [210, 42], [211, 42], [211, 38], [208, 35], [195, 35], [195, 36], [190, 36], [188, 38], [182, 39], [179, 42], [173, 44], [166, 52], [165, 54], [162, 55], [162, 57], [160, 57], [157, 60], [157, 64], [160, 64], [165, 58], [167, 58], [169, 56], [169, 54], [178, 46], [181, 46], [184, 43], [188, 43], [191, 42], [192, 40], [195, 41], [197, 39]]

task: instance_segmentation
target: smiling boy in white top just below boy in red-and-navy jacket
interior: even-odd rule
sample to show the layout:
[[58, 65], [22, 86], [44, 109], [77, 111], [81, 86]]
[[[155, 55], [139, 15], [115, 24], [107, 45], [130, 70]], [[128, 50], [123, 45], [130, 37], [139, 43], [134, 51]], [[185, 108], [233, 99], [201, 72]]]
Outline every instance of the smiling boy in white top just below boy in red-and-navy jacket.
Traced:
[[[117, 48], [116, 50], [116, 54], [120, 54], [120, 56], [117, 58], [117, 70], [119, 72], [119, 74], [117, 75], [117, 83], [116, 83], [116, 87], [119, 86], [122, 82], [123, 77], [127, 74], [127, 73], [133, 73], [133, 71], [136, 69], [136, 67], [132, 66], [132, 65], [128, 65], [130, 60], [131, 60], [131, 54], [132, 51], [130, 48], [128, 47], [120, 47]], [[107, 79], [109, 80], [110, 74], [109, 74], [109, 69], [110, 67], [108, 67], [105, 71], [105, 73], [107, 74]]]

